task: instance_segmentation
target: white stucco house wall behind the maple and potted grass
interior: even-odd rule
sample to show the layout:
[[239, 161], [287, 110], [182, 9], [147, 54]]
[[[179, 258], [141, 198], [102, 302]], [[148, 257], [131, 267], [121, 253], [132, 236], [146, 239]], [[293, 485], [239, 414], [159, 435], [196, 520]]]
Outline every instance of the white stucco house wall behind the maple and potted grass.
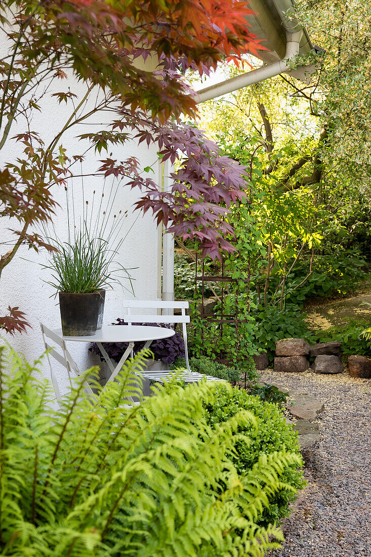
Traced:
[[[52, 97], [53, 92], [66, 90], [67, 87], [76, 94], [82, 94], [85, 91], [85, 86], [82, 83], [77, 83], [74, 79], [70, 78], [67, 82], [58, 81], [50, 89], [45, 99], [42, 102], [42, 112], [36, 113], [32, 121], [31, 128], [40, 133], [42, 139], [47, 142], [56, 132], [61, 129], [64, 121], [71, 112], [70, 105], [62, 103], [57, 104], [55, 97]], [[92, 122], [99, 123], [109, 121], [112, 115], [99, 116], [99, 119], [92, 119]], [[106, 119], [106, 120], [105, 120]], [[86, 133], [87, 131], [99, 130], [104, 126], [102, 125], [79, 125], [71, 130], [70, 133], [64, 135], [61, 143], [67, 149], [67, 155], [74, 155], [82, 153], [85, 148], [81, 141], [76, 139], [76, 135]], [[12, 129], [11, 136], [19, 131], [24, 130], [23, 122], [19, 120], [18, 126]], [[22, 153], [22, 144], [16, 144], [13, 140], [9, 140], [6, 146], [0, 153], [0, 167], [3, 168], [4, 163], [14, 160]], [[130, 155], [135, 155], [140, 160], [143, 166], [153, 165], [157, 160], [157, 147], [155, 145], [147, 145], [141, 143], [137, 145], [134, 142], [128, 143], [119, 148], [110, 149], [113, 152], [113, 158], [125, 160]], [[97, 161], [106, 158], [105, 152], [95, 155], [94, 150], [91, 150], [87, 155], [84, 162], [84, 172], [92, 172], [98, 167]], [[154, 179], [158, 178], [159, 169], [157, 163], [154, 165]], [[152, 175], [153, 176], [153, 175]], [[102, 185], [102, 178], [85, 178], [84, 179], [84, 192], [87, 199], [92, 195], [92, 191], [96, 188], [99, 190]], [[79, 182], [75, 179], [75, 189], [79, 191]], [[110, 187], [110, 180], [107, 182]], [[53, 223], [55, 224], [56, 232], [60, 238], [66, 238], [67, 219], [65, 210], [65, 189], [64, 186], [55, 186], [52, 190], [53, 198], [60, 203]], [[120, 188], [120, 194], [116, 200], [117, 211], [120, 209], [128, 211], [128, 217], [123, 226], [123, 233], [125, 234], [130, 228], [131, 224], [138, 216], [138, 211], [133, 212], [133, 203], [140, 195], [139, 190], [130, 190], [129, 187], [124, 185]], [[0, 219], [0, 238], [2, 241], [8, 239], [7, 228], [16, 227], [17, 223], [12, 223], [4, 218]], [[18, 226], [17, 226], [18, 228]], [[139, 214], [134, 226], [131, 228], [125, 243], [120, 250], [119, 262], [126, 268], [137, 267], [131, 271], [134, 280], [135, 296], [138, 299], [157, 299], [158, 297], [158, 266], [160, 260], [158, 258], [158, 229], [154, 223], [153, 217], [150, 214], [143, 216]], [[9, 247], [1, 246], [0, 255], [7, 251]], [[37, 255], [33, 250], [28, 250], [26, 246], [19, 249], [13, 261], [5, 268], [0, 282], [0, 312], [4, 312], [6, 307], [10, 305], [19, 306], [22, 311], [27, 314], [27, 319], [32, 325], [32, 329], [28, 330], [27, 334], [16, 334], [8, 336], [7, 340], [11, 343], [14, 349], [22, 351], [27, 359], [33, 360], [38, 358], [43, 351], [43, 343], [40, 331], [40, 322], [44, 323], [51, 329], [60, 327], [59, 308], [57, 300], [50, 297], [54, 294], [52, 288], [45, 284], [43, 280], [48, 280], [47, 272], [42, 270], [37, 262], [45, 261], [45, 254]], [[114, 291], [106, 293], [104, 324], [110, 324], [112, 321], [119, 317], [121, 314], [121, 300], [124, 298], [132, 297], [128, 292], [123, 292], [121, 289], [116, 288]], [[2, 313], [1, 313], [2, 314]], [[88, 346], [80, 343], [70, 343], [69, 349], [71, 354], [80, 369], [86, 369], [92, 364], [99, 362], [96, 356], [91, 356], [88, 353]], [[47, 361], [45, 361], [44, 371], [49, 375]], [[60, 376], [62, 384], [67, 385], [63, 374]], [[63, 390], [63, 387], [62, 387]]]

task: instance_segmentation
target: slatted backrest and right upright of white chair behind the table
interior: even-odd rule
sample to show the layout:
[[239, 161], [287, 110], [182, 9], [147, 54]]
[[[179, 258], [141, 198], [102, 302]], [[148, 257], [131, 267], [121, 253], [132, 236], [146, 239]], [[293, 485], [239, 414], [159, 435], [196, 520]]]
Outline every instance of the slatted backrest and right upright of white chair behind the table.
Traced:
[[[133, 323], [159, 323], [159, 324], [175, 324], [182, 323], [183, 330], [183, 340], [184, 340], [184, 352], [186, 354], [186, 365], [189, 372], [191, 368], [189, 367], [188, 361], [188, 344], [187, 344], [187, 327], [186, 323], [190, 323], [189, 315], [186, 315], [186, 309], [189, 307], [189, 302], [164, 302], [162, 300], [124, 300], [124, 320], [128, 325]], [[181, 315], [149, 315], [149, 314], [133, 314], [131, 309], [166, 309], [182, 310]]]

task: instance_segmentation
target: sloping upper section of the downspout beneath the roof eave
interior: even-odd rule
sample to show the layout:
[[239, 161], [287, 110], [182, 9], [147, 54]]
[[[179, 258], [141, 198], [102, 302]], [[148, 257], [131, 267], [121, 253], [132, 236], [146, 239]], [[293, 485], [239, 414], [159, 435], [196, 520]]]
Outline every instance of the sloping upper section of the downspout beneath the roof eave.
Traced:
[[279, 62], [273, 62], [267, 66], [262, 66], [257, 70], [248, 71], [246, 74], [231, 77], [231, 79], [227, 79], [227, 81], [223, 81], [222, 83], [211, 85], [211, 87], [205, 87], [205, 89], [197, 91], [195, 98], [197, 104], [211, 99], [216, 99], [221, 95], [227, 95], [232, 91], [242, 89], [242, 87], [253, 85], [265, 79], [269, 79], [269, 77], [283, 74], [285, 71], [289, 70], [290, 60], [299, 54], [299, 43], [302, 36], [302, 30], [295, 33], [286, 32], [286, 35], [286, 53], [282, 60]]

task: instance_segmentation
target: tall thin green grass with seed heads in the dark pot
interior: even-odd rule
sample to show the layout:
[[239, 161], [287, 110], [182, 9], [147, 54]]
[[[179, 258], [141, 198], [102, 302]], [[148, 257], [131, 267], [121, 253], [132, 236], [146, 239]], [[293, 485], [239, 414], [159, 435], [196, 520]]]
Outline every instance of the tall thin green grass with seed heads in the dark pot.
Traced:
[[[53, 224], [51, 230], [44, 231], [54, 250], [43, 268], [50, 271], [47, 284], [56, 292], [89, 294], [111, 289], [123, 280], [128, 280], [133, 292], [129, 270], [118, 261], [119, 250], [130, 231], [125, 236], [121, 233], [127, 212], [115, 209], [119, 187], [120, 182], [113, 182], [105, 201], [104, 183], [99, 194], [94, 190], [90, 202], [84, 197], [83, 183], [81, 192], [74, 191], [73, 183], [70, 188], [65, 187], [67, 238], [60, 240]], [[81, 213], [82, 217], [77, 218]]]

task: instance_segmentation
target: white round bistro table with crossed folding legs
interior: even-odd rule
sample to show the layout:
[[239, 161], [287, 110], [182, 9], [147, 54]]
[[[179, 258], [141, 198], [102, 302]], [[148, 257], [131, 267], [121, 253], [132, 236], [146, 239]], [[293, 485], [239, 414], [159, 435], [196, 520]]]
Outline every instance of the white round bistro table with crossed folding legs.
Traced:
[[[134, 348], [134, 343], [145, 342], [144, 349], [147, 349], [153, 340], [167, 339], [170, 336], [173, 336], [175, 331], [166, 327], [152, 327], [150, 325], [106, 325], [101, 329], [98, 329], [95, 335], [65, 336], [62, 334], [62, 329], [54, 329], [53, 333], [66, 341], [96, 343], [112, 372], [110, 378], [108, 379], [109, 382], [115, 379], [116, 375], [123, 367], [125, 360]], [[129, 343], [128, 348], [126, 348], [116, 367], [114, 367], [102, 343]]]

